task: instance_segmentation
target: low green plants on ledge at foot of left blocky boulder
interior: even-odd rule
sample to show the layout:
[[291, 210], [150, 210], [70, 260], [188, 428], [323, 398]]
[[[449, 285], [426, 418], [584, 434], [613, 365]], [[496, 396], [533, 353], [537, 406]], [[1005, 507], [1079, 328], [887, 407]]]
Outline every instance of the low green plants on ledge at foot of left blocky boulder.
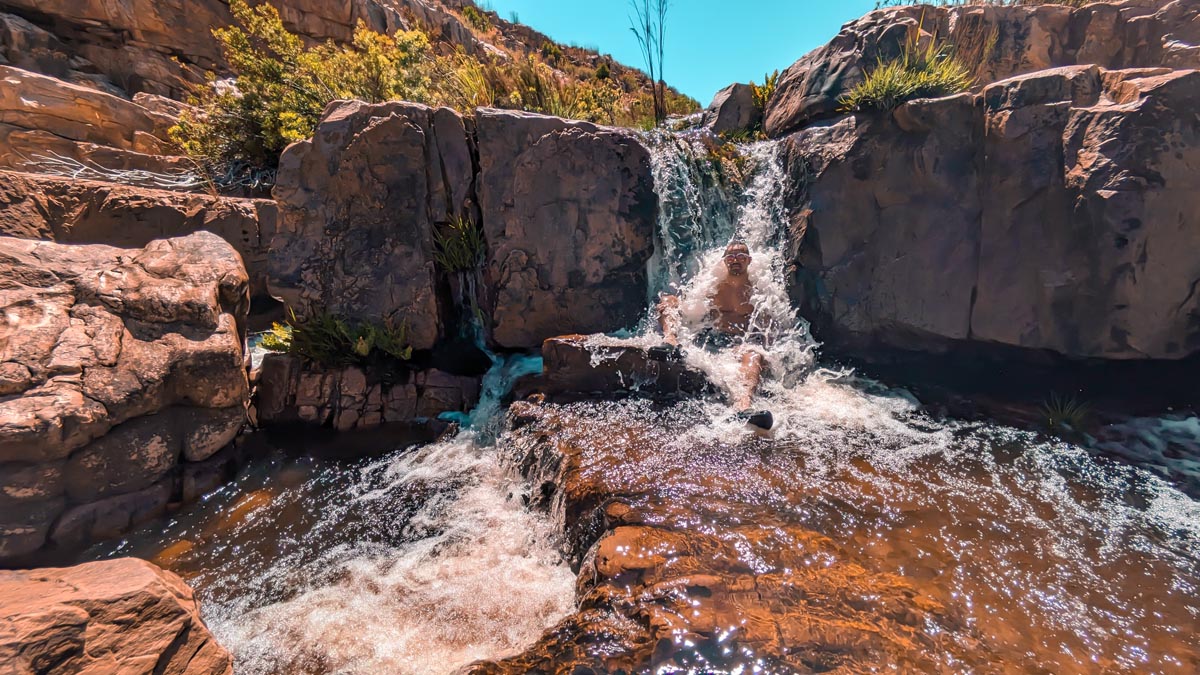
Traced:
[[263, 335], [262, 346], [331, 368], [395, 364], [413, 357], [406, 324], [348, 323], [329, 312], [304, 319], [290, 312], [288, 321], [276, 322]]

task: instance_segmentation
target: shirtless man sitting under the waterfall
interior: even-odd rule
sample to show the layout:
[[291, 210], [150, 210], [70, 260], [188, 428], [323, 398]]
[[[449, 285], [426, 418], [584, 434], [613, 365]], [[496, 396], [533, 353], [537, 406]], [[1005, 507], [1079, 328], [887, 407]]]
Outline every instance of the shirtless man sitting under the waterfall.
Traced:
[[[755, 305], [754, 282], [750, 279], [750, 247], [734, 239], [725, 249], [725, 275], [708, 295], [706, 325], [696, 336], [696, 342], [710, 350], [734, 350], [738, 356], [738, 382], [731, 387], [730, 396], [738, 417], [751, 426], [769, 430], [774, 425], [770, 411], [754, 411], [755, 392], [762, 381], [766, 363], [763, 348], [766, 336], [751, 330]], [[659, 324], [666, 347], [660, 351], [678, 354], [679, 328], [683, 323], [678, 295], [664, 295], [659, 303]]]

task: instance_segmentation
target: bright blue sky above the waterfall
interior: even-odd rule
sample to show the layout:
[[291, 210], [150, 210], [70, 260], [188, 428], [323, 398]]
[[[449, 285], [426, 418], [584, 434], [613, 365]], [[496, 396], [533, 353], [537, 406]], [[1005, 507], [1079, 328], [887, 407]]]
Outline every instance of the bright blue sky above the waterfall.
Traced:
[[[593, 47], [644, 67], [629, 31], [629, 0], [476, 0], [503, 18], [558, 42]], [[667, 18], [666, 80], [701, 104], [732, 82], [762, 82], [841, 24], [875, 8], [875, 0], [673, 0]]]

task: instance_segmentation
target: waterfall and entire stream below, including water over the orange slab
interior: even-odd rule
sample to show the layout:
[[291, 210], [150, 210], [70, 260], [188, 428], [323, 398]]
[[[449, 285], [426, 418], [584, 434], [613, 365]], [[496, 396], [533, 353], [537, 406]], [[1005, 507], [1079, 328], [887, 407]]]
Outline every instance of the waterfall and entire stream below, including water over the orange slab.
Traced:
[[[184, 575], [239, 674], [451, 673], [503, 658], [521, 671], [568, 652], [612, 655], [616, 670], [640, 649], [623, 631], [644, 623], [674, 635], [647, 647], [662, 671], [1200, 671], [1200, 506], [1150, 471], [935, 419], [904, 390], [822, 368], [782, 282], [776, 148], [743, 154], [654, 141], [652, 291], [702, 315], [725, 243], [749, 244], [774, 437], [707, 400], [544, 406], [535, 424], [577, 491], [636, 513], [614, 519], [628, 527], [610, 526], [599, 546], [612, 555], [580, 589], [610, 587], [593, 603], [620, 615], [605, 626], [643, 625], [568, 619], [563, 522], [526, 507], [514, 460], [529, 435], [498, 428], [494, 395], [449, 441], [371, 460], [302, 447], [256, 460], [89, 555]], [[746, 174], [744, 189], [730, 172]], [[623, 339], [658, 341], [648, 325]], [[718, 383], [736, 371], [730, 354], [686, 359]], [[499, 362], [491, 389], [536, 368]], [[601, 579], [605, 561], [617, 573]]]

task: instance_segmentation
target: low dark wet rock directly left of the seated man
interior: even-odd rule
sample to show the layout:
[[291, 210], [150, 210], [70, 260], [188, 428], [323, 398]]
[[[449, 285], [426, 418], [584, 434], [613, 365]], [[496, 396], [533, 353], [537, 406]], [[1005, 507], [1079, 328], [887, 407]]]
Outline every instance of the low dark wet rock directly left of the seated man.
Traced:
[[541, 347], [541, 358], [539, 389], [556, 400], [620, 393], [678, 399], [713, 389], [704, 374], [679, 359], [655, 358], [644, 347], [602, 335], [551, 338]]

